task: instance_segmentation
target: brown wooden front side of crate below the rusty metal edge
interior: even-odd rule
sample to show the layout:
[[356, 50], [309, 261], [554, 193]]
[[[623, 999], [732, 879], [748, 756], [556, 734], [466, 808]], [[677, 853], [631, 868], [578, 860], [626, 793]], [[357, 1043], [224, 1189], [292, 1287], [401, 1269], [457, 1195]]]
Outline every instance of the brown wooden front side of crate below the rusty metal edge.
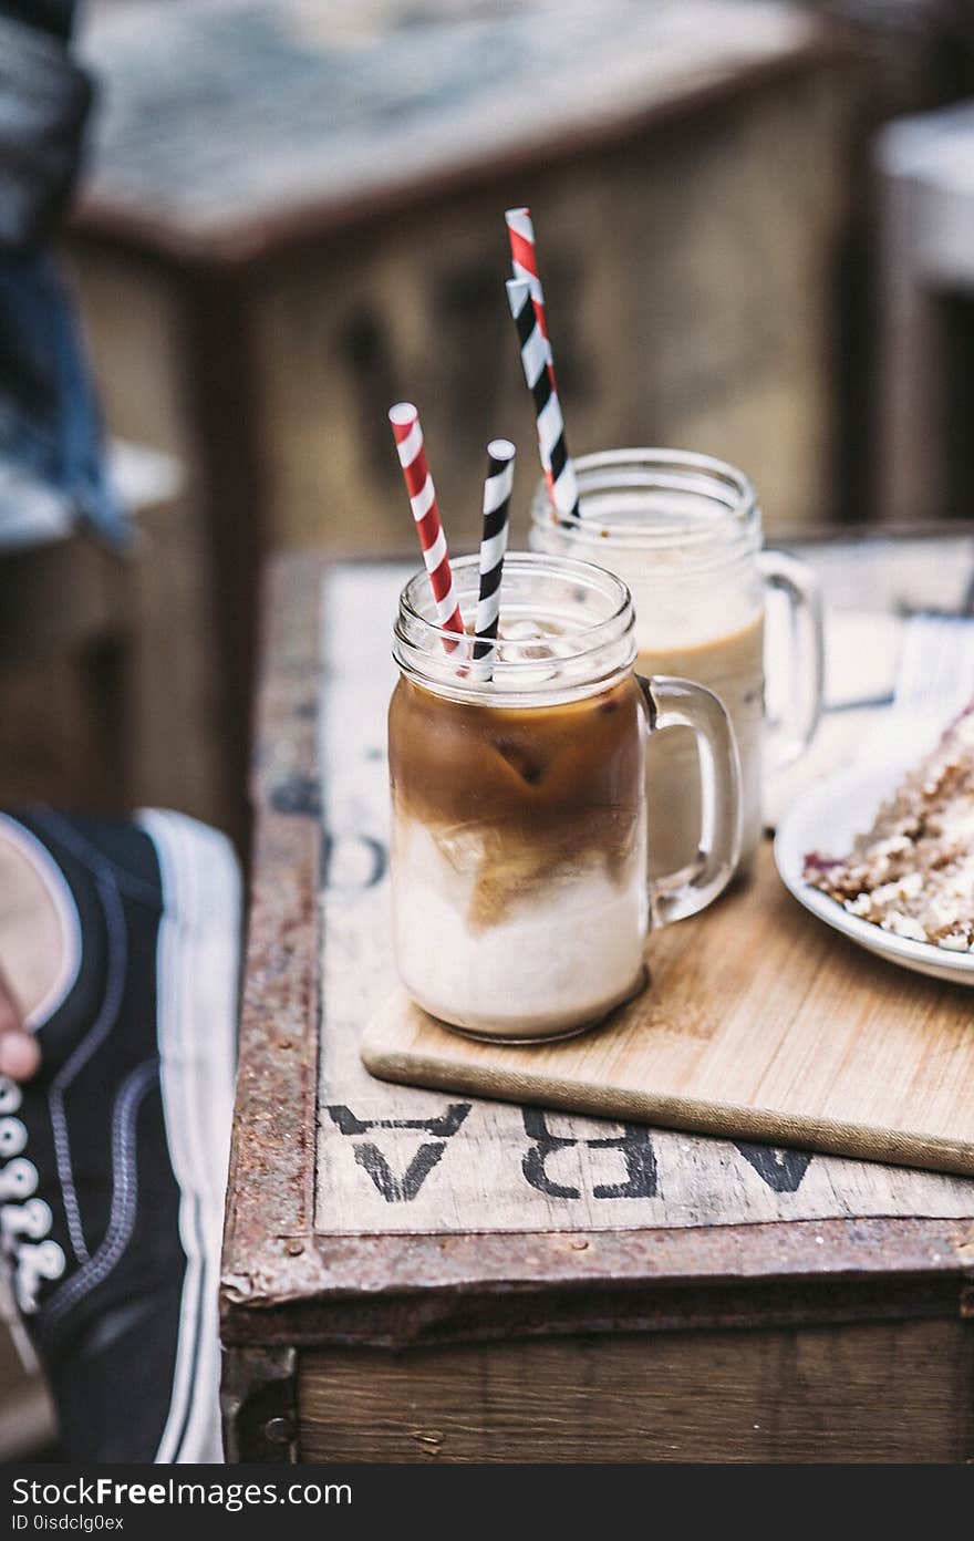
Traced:
[[302, 1355], [305, 1461], [965, 1461], [959, 1321]]

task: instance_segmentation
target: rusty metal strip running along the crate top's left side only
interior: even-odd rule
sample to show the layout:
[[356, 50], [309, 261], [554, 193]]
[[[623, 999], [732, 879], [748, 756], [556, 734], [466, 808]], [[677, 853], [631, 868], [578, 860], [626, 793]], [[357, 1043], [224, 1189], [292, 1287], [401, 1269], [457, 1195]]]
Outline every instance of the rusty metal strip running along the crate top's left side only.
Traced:
[[250, 1293], [251, 1259], [308, 1234], [317, 1103], [317, 599], [321, 562], [271, 562], [251, 766], [254, 860], [240, 1005], [222, 1304]]

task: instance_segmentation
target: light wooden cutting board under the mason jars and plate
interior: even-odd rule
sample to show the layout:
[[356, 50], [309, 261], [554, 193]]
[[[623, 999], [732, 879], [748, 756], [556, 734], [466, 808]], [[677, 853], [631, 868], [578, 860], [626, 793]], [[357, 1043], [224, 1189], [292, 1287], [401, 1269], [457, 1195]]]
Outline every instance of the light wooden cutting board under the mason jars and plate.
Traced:
[[657, 932], [649, 989], [547, 1046], [475, 1043], [398, 992], [385, 1080], [974, 1173], [974, 992], [874, 959], [806, 914], [771, 846], [754, 878]]

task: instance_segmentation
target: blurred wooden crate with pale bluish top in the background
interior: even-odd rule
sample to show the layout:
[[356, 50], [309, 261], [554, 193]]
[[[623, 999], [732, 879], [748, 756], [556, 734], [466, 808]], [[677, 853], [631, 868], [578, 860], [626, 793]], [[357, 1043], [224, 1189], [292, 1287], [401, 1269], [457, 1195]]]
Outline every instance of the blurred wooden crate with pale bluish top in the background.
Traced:
[[96, 26], [72, 259], [113, 427], [199, 464], [237, 535], [408, 539], [385, 422], [405, 394], [453, 539], [476, 538], [487, 439], [533, 445], [509, 203], [535, 213], [575, 452], [694, 447], [747, 467], [772, 530], [835, 516], [857, 82], [814, 18], [387, 3], [342, 32], [334, 6], [230, 11]]

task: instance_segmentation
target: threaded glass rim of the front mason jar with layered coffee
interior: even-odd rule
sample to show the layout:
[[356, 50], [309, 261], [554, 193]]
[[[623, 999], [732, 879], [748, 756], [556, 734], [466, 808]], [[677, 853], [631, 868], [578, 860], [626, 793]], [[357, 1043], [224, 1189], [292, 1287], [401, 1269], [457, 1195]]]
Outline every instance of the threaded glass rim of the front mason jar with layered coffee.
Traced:
[[[479, 587], [478, 555], [461, 556], [452, 564], [453, 584], [467, 621], [473, 618]], [[393, 627], [393, 658], [421, 684], [459, 701], [492, 706], [552, 704], [555, 698], [578, 700], [609, 689], [635, 661], [635, 615], [629, 587], [615, 573], [576, 556], [541, 552], [509, 552], [504, 559], [504, 590], [516, 593], [526, 581], [561, 584], [576, 603], [601, 596], [606, 613], [567, 630], [541, 629], [532, 636], [501, 636], [490, 647], [490, 675], [484, 660], [475, 656], [475, 636], [464, 636], [441, 626], [424, 570], [415, 573], [399, 595]], [[581, 593], [579, 593], [581, 590]], [[538, 601], [539, 616], [549, 621], [567, 615], [555, 601]], [[522, 607], [524, 601], [522, 601]], [[509, 598], [509, 612], [518, 609]], [[556, 647], [555, 656], [538, 658], [542, 646]]]

